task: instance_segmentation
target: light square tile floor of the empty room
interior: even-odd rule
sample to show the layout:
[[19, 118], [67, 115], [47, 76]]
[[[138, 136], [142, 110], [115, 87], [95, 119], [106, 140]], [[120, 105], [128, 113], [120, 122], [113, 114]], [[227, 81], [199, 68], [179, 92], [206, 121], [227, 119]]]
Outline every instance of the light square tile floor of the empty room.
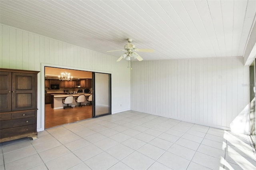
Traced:
[[135, 111], [0, 144], [1, 170], [255, 170], [250, 136]]

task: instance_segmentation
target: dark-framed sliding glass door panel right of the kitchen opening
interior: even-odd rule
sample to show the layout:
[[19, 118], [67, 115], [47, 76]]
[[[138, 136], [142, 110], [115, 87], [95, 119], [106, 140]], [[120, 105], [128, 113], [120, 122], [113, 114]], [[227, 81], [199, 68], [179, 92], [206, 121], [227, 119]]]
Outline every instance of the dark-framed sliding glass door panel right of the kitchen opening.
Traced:
[[93, 113], [94, 117], [111, 114], [111, 75], [93, 73]]

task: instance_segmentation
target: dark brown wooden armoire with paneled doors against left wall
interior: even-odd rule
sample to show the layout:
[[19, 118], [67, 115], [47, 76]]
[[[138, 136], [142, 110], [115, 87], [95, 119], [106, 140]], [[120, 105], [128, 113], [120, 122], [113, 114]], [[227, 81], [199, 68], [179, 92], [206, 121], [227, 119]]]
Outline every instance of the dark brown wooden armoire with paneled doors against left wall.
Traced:
[[0, 142], [37, 139], [37, 74], [0, 68]]

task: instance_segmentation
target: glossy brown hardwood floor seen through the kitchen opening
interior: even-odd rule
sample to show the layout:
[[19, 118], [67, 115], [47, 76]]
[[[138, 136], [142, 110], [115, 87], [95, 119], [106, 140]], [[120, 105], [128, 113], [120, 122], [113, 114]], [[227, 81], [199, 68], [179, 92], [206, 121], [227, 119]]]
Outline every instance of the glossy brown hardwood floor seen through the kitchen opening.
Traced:
[[73, 109], [52, 109], [51, 104], [45, 104], [45, 129], [90, 118], [92, 118], [92, 105], [73, 107]]

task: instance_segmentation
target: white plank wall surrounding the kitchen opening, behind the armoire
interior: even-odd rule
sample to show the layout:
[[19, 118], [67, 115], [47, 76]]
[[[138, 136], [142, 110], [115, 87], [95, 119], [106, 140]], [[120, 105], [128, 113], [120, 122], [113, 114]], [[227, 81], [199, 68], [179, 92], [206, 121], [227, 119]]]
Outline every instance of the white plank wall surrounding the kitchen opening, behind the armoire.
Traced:
[[40, 71], [38, 131], [44, 130], [44, 66], [111, 73], [112, 113], [130, 110], [130, 69], [125, 61], [117, 63], [116, 57], [3, 24], [0, 43], [1, 68]]

